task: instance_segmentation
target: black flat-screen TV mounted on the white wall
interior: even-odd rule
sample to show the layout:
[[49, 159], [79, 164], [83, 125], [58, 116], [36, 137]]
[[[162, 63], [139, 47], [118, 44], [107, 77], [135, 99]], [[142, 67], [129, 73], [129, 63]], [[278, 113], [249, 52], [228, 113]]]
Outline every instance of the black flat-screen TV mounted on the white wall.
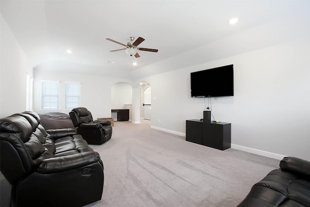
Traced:
[[233, 64], [190, 73], [191, 97], [233, 96]]

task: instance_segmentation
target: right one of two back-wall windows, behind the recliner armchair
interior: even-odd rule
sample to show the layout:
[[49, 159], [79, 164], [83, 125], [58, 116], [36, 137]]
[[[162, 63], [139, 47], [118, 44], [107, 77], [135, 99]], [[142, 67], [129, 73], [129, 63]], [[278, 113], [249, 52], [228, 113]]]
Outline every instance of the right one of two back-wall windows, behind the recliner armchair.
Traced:
[[66, 83], [66, 108], [79, 107], [80, 83]]

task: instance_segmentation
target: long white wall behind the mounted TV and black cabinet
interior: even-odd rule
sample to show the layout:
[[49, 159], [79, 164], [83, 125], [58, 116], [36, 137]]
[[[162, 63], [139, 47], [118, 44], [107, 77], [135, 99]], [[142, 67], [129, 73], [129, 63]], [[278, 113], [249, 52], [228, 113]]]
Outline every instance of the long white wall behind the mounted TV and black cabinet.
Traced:
[[204, 98], [190, 97], [190, 72], [233, 64], [234, 96], [212, 99], [215, 119], [232, 123], [232, 144], [310, 160], [309, 54], [309, 40], [299, 40], [143, 78], [151, 125], [185, 133], [205, 109]]

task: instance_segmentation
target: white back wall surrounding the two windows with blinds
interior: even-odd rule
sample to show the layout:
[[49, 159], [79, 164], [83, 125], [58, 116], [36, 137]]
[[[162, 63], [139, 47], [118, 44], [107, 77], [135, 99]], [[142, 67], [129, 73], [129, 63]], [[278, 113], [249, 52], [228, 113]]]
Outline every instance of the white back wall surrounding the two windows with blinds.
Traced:
[[92, 112], [93, 119], [111, 116], [111, 86], [117, 82], [130, 82], [131, 80], [116, 79], [102, 76], [85, 75], [78, 73], [51, 72], [44, 70], [45, 65], [41, 65], [33, 70], [33, 110], [37, 113], [50, 111], [41, 110], [41, 81], [60, 81], [60, 112], [69, 113], [71, 110], [65, 108], [65, 82], [80, 82], [80, 106]]

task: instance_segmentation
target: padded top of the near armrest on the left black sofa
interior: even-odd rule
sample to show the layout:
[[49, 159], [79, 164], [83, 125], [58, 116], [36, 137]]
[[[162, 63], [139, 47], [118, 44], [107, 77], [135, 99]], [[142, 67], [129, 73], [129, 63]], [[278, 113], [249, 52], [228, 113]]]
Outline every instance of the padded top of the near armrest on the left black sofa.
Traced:
[[100, 155], [97, 152], [82, 152], [74, 155], [44, 159], [38, 166], [38, 173], [52, 174], [76, 169], [98, 162]]

